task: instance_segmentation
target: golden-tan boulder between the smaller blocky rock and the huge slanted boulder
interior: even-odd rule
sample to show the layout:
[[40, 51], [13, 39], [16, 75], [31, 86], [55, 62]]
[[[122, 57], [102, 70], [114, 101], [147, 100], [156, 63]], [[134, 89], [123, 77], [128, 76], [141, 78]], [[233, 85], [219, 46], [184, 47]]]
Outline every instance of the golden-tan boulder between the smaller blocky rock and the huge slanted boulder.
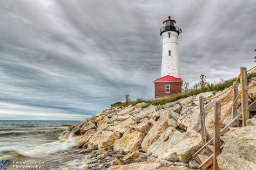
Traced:
[[145, 134], [133, 129], [127, 130], [122, 138], [114, 142], [114, 151], [123, 150], [124, 152], [130, 152], [133, 150], [138, 150], [140, 144], [142, 143]]

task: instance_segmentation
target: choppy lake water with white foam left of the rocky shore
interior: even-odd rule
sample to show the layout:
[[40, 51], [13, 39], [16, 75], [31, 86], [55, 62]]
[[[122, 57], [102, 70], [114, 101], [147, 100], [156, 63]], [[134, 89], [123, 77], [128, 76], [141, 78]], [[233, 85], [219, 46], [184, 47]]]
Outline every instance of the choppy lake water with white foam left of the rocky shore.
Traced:
[[39, 166], [41, 169], [82, 169], [89, 155], [77, 154], [77, 143], [72, 139], [58, 140], [69, 125], [76, 123], [0, 121], [0, 161], [10, 159], [10, 165], [6, 165], [8, 161], [4, 164], [6, 170], [38, 169]]

